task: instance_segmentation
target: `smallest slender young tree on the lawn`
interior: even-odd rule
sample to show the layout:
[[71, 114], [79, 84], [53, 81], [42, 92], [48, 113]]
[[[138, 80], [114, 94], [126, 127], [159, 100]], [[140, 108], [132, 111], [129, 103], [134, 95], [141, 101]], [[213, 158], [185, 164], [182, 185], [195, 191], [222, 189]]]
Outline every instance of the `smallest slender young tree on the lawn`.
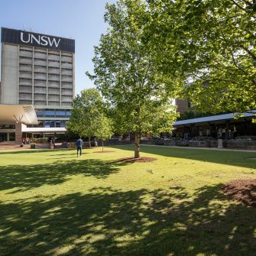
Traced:
[[104, 151], [104, 140], [109, 139], [113, 132], [112, 132], [112, 125], [110, 122], [110, 119], [105, 117], [105, 115], [101, 115], [100, 118], [98, 118], [98, 129], [96, 131], [96, 136], [102, 140], [102, 151]]

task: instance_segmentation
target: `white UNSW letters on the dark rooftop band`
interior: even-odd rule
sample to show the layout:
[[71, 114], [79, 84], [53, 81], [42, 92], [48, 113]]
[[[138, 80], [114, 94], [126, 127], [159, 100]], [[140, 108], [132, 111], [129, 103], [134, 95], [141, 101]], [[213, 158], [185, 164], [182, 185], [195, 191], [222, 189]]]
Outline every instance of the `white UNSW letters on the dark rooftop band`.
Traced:
[[58, 40], [54, 37], [52, 39], [50, 39], [50, 37], [47, 37], [47, 36], [41, 36], [40, 34], [35, 36], [34, 34], [30, 34], [30, 33], [28, 33], [27, 37], [24, 38], [23, 32], [21, 32], [21, 41], [26, 44], [37, 43], [37, 44], [43, 45], [43, 46], [47, 46], [49, 44], [50, 47], [53, 47], [53, 44], [55, 44], [55, 47], [58, 47], [60, 44], [60, 38]]

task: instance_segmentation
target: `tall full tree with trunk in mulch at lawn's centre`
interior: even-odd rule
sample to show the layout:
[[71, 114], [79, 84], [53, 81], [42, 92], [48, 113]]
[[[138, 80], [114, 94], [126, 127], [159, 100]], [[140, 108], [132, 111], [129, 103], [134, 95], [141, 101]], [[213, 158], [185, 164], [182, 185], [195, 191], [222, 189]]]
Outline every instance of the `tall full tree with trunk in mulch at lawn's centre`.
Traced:
[[169, 104], [176, 83], [160, 77], [143, 41], [147, 6], [142, 0], [106, 5], [109, 30], [95, 47], [94, 80], [115, 113], [116, 127], [134, 132], [134, 157], [140, 157], [140, 134], [170, 131], [174, 112]]

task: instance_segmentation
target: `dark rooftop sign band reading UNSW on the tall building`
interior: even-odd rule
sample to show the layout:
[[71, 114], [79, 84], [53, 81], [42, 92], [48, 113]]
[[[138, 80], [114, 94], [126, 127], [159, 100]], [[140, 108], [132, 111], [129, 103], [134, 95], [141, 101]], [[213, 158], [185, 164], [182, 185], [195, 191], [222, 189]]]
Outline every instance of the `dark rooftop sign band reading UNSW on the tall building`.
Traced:
[[53, 37], [47, 34], [37, 34], [28, 31], [18, 31], [2, 28], [2, 43], [24, 44], [34, 47], [44, 47], [53, 50], [75, 52], [75, 41], [63, 37]]

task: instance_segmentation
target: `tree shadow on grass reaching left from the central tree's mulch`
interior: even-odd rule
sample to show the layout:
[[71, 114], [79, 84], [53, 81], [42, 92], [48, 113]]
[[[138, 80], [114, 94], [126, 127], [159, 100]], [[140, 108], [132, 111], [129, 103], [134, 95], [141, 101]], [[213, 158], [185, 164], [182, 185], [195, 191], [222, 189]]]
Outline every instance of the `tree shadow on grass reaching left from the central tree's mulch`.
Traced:
[[105, 179], [118, 172], [125, 163], [112, 160], [66, 160], [52, 164], [8, 165], [0, 171], [0, 190], [15, 189], [11, 193], [30, 190], [43, 185], [57, 185], [72, 175], [92, 176]]

